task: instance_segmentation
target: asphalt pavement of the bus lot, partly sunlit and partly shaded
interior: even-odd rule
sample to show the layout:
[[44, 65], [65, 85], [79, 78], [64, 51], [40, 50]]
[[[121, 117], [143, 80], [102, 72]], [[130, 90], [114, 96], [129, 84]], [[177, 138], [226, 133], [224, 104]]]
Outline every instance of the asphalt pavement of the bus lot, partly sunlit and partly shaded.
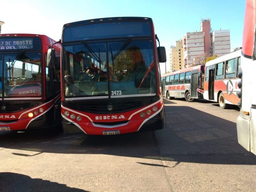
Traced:
[[255, 191], [239, 109], [165, 100], [167, 127], [113, 136], [0, 132], [0, 191]]

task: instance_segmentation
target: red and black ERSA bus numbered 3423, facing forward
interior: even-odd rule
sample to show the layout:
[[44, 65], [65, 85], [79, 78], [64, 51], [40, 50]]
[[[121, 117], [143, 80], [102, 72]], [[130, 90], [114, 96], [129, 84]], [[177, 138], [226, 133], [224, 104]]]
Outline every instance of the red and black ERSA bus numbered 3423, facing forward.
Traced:
[[113, 135], [164, 127], [164, 104], [151, 18], [101, 18], [65, 24], [61, 80], [63, 128]]

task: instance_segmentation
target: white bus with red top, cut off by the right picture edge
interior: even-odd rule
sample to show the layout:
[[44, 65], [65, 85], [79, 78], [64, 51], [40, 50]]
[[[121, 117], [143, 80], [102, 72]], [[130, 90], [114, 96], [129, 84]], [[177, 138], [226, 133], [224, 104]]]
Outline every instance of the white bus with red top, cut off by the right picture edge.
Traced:
[[256, 154], [256, 0], [247, 0], [245, 7], [243, 45], [241, 56], [240, 115], [236, 120], [238, 142]]

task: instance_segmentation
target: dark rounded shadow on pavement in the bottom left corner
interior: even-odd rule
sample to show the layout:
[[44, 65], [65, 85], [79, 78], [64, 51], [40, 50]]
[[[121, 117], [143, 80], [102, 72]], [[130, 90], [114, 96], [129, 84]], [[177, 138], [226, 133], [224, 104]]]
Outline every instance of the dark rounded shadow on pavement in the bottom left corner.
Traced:
[[32, 179], [27, 175], [18, 173], [0, 173], [0, 191], [52, 191], [52, 192], [86, 192], [82, 189], [68, 187], [43, 179]]

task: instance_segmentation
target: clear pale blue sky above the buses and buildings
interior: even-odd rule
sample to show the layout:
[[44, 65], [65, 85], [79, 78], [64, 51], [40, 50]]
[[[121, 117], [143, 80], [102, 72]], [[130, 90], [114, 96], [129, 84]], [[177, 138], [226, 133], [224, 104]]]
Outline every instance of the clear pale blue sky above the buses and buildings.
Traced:
[[[245, 0], [1, 0], [1, 33], [44, 34], [61, 38], [62, 27], [75, 21], [105, 17], [151, 17], [167, 54], [186, 32], [200, 31], [201, 18], [212, 30], [229, 29], [231, 49], [242, 46]], [[165, 73], [165, 63], [160, 64]]]

